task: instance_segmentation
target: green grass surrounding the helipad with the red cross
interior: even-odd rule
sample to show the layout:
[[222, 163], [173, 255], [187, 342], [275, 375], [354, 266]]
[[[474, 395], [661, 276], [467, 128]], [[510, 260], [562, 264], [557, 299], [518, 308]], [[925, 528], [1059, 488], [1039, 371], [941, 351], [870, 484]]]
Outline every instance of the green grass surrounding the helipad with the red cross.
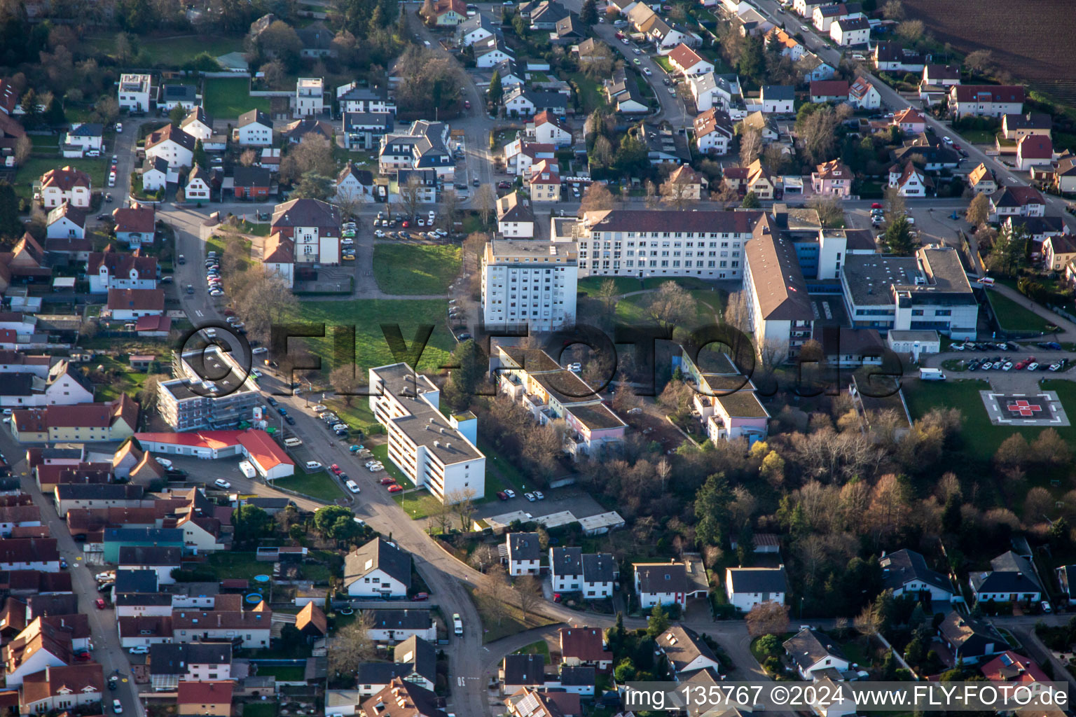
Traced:
[[[964, 414], [964, 426], [961, 434], [964, 436], [964, 450], [980, 459], [989, 459], [997, 450], [997, 446], [1013, 433], [1022, 433], [1028, 442], [1038, 438], [1045, 428], [994, 426], [987, 416], [979, 391], [990, 388], [986, 381], [935, 381], [921, 382], [917, 378], [904, 382], [904, 397], [908, 403], [911, 418], [921, 418], [934, 407], [960, 408]], [[1072, 420], [1076, 417], [1076, 383], [1071, 381], [1044, 381], [1043, 390], [1057, 391], [1062, 405]], [[1076, 443], [1076, 426], [1063, 426], [1054, 429], [1066, 443]], [[1034, 476], [1029, 475], [1034, 479]]]

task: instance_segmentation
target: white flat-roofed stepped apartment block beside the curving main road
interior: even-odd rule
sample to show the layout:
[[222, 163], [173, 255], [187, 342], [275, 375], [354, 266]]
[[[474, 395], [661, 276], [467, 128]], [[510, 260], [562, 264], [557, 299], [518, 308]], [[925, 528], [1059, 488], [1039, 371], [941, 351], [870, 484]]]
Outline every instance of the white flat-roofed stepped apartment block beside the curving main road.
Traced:
[[370, 410], [388, 435], [388, 459], [442, 503], [482, 498], [485, 456], [471, 413], [445, 418], [440, 391], [406, 363], [370, 369]]

